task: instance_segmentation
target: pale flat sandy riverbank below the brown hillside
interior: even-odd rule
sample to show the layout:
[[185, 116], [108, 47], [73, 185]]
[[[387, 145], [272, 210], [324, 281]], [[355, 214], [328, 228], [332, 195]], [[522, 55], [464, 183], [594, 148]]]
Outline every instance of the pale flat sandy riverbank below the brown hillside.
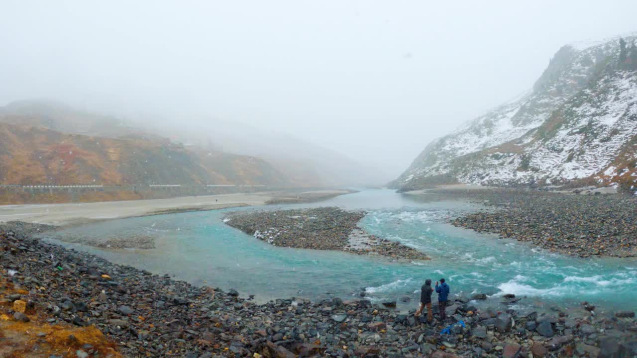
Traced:
[[293, 199], [294, 202], [301, 203], [305, 199], [316, 201], [348, 193], [350, 193], [350, 190], [306, 190], [303, 192], [290, 190], [99, 203], [3, 205], [0, 206], [0, 222], [20, 220], [37, 224], [64, 226], [81, 224], [92, 220], [264, 205], [273, 201], [285, 201], [287, 199]]

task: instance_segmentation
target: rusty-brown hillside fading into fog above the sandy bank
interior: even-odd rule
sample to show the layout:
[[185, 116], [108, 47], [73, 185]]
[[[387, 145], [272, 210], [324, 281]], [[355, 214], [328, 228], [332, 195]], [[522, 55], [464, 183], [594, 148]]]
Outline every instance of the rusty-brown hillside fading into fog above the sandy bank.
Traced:
[[123, 140], [0, 123], [0, 183], [285, 185], [254, 157], [195, 153], [182, 145]]

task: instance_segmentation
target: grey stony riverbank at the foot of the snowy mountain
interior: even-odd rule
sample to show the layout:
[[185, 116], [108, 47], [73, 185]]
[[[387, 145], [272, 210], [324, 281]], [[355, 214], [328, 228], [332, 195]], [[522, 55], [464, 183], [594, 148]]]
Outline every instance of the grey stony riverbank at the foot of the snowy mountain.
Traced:
[[427, 190], [423, 196], [471, 200], [494, 209], [455, 218], [455, 226], [580, 257], [637, 256], [637, 197], [501, 188]]

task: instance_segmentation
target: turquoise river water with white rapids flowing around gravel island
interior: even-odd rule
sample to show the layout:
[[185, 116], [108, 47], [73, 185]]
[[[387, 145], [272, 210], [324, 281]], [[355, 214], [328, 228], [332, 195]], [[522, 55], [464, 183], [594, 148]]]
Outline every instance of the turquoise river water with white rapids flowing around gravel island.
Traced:
[[[343, 252], [273, 247], [223, 223], [228, 211], [308, 206], [364, 209], [368, 215], [359, 226], [422, 250], [432, 259], [396, 263]], [[489, 295], [488, 303], [482, 304], [497, 304], [501, 296], [512, 293], [524, 297], [516, 308], [548, 309], [589, 301], [606, 311], [637, 310], [636, 259], [568, 257], [448, 224], [450, 218], [476, 208], [475, 204], [427, 201], [392, 190], [362, 190], [312, 204], [110, 220], [71, 227], [56, 235], [152, 235], [157, 240], [157, 248], [152, 250], [64, 245], [197, 285], [235, 288], [260, 301], [295, 296], [345, 299], [364, 290], [373, 301], [408, 296], [412, 303], [399, 301], [399, 308], [407, 309], [417, 304], [426, 278], [435, 282], [444, 277], [453, 294]]]

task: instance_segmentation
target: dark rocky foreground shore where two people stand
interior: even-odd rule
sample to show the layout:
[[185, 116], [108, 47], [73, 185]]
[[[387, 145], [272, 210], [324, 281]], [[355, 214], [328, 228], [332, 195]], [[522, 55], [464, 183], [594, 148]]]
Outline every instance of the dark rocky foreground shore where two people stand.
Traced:
[[[40, 357], [40, 350], [59, 352], [54, 357], [189, 358], [637, 354], [634, 312], [601, 317], [590, 304], [537, 313], [510, 308], [519, 299], [512, 295], [485, 310], [454, 297], [450, 319], [431, 325], [415, 319], [413, 310], [364, 299], [255, 304], [235, 290], [194, 287], [13, 232], [0, 233], [0, 273], [0, 352], [6, 357]], [[17, 331], [27, 324], [36, 329]], [[441, 333], [451, 324], [449, 334]]]

